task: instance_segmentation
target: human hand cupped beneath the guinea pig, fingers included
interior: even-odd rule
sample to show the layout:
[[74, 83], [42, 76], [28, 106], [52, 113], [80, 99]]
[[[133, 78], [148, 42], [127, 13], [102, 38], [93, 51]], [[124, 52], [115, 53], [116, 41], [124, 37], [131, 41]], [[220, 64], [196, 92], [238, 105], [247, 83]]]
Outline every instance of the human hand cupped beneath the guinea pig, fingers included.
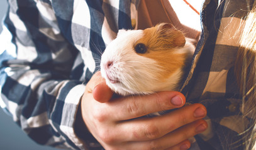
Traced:
[[[98, 72], [82, 96], [82, 119], [105, 149], [188, 149], [188, 138], [207, 128], [202, 104], [185, 104], [178, 92], [111, 99], [111, 90]], [[95, 100], [97, 99], [97, 101]], [[150, 113], [181, 108], [163, 116]]]

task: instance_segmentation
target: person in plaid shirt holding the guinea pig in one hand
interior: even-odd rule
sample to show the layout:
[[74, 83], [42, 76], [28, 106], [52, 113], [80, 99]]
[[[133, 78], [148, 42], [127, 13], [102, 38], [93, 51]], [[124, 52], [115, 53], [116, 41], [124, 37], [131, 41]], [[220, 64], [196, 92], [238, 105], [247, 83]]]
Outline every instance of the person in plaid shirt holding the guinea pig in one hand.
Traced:
[[[239, 41], [254, 1], [202, 1], [201, 31], [180, 22], [173, 8], [182, 6], [167, 0], [8, 2], [0, 104], [36, 143], [90, 150], [253, 149], [253, 102], [247, 100], [255, 98], [254, 84], [240, 90], [246, 80], [235, 75], [248, 75], [237, 53], [244, 52]], [[162, 22], [194, 41], [181, 88], [118, 96], [99, 71], [105, 47], [120, 29]]]

